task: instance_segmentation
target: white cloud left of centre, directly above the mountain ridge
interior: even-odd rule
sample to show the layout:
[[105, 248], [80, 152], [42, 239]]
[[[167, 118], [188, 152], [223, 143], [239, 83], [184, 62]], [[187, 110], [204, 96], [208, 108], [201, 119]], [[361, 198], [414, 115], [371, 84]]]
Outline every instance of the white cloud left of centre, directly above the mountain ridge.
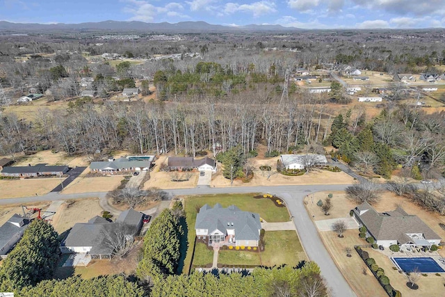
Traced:
[[130, 21], [152, 22], [160, 15], [189, 18], [188, 15], [178, 11], [184, 10], [181, 3], [170, 2], [165, 6], [154, 6], [144, 0], [125, 0], [125, 2], [127, 2], [127, 6], [124, 8], [124, 12], [133, 15], [129, 18]]

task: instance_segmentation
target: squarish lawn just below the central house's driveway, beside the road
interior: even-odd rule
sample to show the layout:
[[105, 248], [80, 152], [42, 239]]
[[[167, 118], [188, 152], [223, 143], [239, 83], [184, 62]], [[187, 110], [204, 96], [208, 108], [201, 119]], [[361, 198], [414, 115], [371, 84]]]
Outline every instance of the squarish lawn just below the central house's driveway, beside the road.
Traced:
[[261, 252], [264, 266], [296, 266], [300, 261], [307, 260], [295, 231], [266, 231], [264, 241], [266, 246]]

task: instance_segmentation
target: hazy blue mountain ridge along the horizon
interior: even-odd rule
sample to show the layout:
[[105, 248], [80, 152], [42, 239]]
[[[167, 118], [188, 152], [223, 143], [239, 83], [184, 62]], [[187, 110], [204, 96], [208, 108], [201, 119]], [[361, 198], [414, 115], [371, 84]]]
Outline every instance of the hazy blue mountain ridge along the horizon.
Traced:
[[119, 22], [119, 21], [104, 21], [104, 22], [87, 22], [79, 24], [26, 24], [26, 23], [12, 23], [0, 21], [0, 31], [90, 31], [90, 30], [104, 30], [104, 31], [175, 31], [175, 32], [199, 32], [199, 31], [295, 31], [298, 28], [284, 27], [281, 25], [257, 25], [250, 24], [247, 26], [223, 26], [214, 25], [207, 22], [179, 22], [171, 24], [168, 22], [162, 23], [146, 23], [146, 22]]

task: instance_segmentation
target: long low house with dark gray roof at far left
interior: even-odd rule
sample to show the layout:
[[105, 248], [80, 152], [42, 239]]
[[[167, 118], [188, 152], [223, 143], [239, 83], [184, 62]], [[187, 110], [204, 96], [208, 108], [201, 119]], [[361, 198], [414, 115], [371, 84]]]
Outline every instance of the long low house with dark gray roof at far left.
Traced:
[[6, 177], [38, 177], [41, 175], [64, 175], [70, 168], [68, 166], [7, 166], [1, 170], [0, 175]]

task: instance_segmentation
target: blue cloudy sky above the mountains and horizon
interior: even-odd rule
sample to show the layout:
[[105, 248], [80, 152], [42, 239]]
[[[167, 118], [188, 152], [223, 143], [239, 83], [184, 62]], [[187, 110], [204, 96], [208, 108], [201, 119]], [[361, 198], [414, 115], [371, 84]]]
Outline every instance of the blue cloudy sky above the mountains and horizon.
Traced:
[[0, 20], [24, 23], [204, 21], [302, 29], [445, 27], [445, 0], [0, 0]]

